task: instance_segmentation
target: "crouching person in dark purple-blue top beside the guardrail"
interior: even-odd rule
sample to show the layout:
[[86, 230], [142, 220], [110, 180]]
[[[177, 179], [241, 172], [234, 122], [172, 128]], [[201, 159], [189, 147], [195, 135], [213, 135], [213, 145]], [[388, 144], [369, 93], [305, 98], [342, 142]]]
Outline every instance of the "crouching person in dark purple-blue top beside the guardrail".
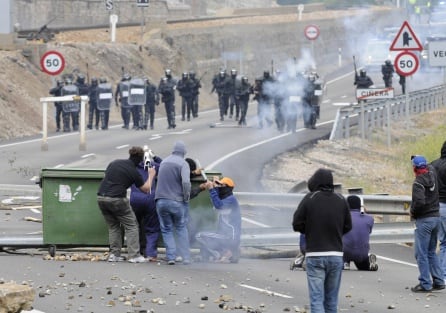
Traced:
[[359, 271], [377, 271], [376, 255], [369, 254], [370, 234], [374, 220], [363, 210], [361, 200], [357, 195], [347, 197], [352, 217], [352, 229], [342, 237], [344, 270], [349, 270], [350, 262], [354, 262]]

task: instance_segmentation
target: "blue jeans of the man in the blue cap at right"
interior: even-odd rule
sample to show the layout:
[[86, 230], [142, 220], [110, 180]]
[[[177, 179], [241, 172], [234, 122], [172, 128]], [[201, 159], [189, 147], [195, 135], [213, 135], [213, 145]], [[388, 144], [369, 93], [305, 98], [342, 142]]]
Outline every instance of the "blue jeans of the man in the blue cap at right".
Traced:
[[420, 272], [418, 280], [420, 285], [427, 290], [432, 288], [432, 283], [444, 285], [444, 277], [436, 253], [439, 224], [439, 217], [418, 218], [415, 221], [415, 259]]

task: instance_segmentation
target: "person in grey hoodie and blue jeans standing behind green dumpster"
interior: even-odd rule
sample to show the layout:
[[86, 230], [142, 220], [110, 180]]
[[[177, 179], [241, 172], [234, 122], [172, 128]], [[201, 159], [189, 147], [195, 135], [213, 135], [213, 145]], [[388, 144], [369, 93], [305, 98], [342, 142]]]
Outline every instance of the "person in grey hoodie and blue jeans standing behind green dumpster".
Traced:
[[[155, 191], [156, 211], [169, 265], [190, 263], [187, 215], [191, 183], [185, 155], [184, 142], [177, 141], [172, 154], [161, 162]], [[178, 253], [175, 239], [178, 241]]]

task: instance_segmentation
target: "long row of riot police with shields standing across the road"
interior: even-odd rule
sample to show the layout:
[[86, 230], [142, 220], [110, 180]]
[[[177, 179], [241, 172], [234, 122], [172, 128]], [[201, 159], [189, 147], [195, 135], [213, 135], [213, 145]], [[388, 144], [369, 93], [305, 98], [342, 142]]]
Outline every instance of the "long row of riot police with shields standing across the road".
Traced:
[[[107, 130], [112, 101], [120, 108], [122, 128], [147, 130], [154, 129], [155, 107], [164, 104], [168, 129], [176, 127], [175, 95], [181, 100], [181, 120], [190, 121], [198, 117], [201, 79], [195, 72], [183, 72], [176, 79], [170, 69], [166, 69], [158, 85], [147, 77], [131, 77], [124, 73], [116, 89], [105, 78], [85, 80], [83, 74], [75, 78], [73, 74], [63, 75], [49, 93], [60, 96], [88, 96], [88, 129]], [[206, 73], [205, 73], [206, 74]], [[216, 91], [220, 120], [225, 117], [246, 126], [246, 114], [251, 100], [257, 101], [258, 127], [272, 126], [277, 130], [296, 131], [299, 118], [306, 128], [315, 128], [320, 116], [323, 83], [314, 70], [297, 72], [294, 75], [276, 71], [271, 75], [264, 71], [263, 76], [251, 84], [246, 76], [232, 69], [220, 69], [212, 79], [211, 93]], [[56, 131], [79, 131], [79, 101], [55, 101]], [[274, 110], [274, 114], [272, 112]]]

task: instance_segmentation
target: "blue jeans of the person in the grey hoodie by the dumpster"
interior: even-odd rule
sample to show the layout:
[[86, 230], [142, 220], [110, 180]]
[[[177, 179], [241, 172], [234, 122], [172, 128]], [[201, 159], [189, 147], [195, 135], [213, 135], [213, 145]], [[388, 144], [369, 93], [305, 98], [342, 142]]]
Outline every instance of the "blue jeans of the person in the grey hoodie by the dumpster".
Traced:
[[177, 257], [176, 239], [178, 241], [179, 256], [183, 260], [190, 261], [189, 233], [187, 231], [188, 203], [169, 199], [156, 200], [156, 211], [158, 213], [161, 235], [166, 246], [167, 261], [173, 261]]

